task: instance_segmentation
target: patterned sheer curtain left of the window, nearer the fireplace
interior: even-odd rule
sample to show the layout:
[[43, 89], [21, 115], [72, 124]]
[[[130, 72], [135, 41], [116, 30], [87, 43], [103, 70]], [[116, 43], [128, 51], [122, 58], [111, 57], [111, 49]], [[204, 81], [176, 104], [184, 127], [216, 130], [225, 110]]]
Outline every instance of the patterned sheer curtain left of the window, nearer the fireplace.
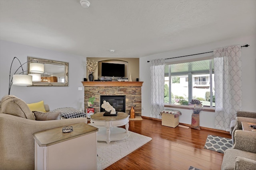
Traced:
[[150, 61], [151, 113], [150, 117], [160, 118], [164, 110], [164, 59]]

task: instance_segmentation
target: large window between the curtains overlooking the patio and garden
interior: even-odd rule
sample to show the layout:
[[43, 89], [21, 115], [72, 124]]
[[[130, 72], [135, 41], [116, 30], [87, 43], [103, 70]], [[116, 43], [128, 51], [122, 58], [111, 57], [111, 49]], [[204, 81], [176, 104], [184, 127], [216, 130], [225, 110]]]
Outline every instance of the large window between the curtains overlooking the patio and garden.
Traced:
[[164, 102], [187, 106], [192, 99], [215, 107], [213, 59], [165, 66]]

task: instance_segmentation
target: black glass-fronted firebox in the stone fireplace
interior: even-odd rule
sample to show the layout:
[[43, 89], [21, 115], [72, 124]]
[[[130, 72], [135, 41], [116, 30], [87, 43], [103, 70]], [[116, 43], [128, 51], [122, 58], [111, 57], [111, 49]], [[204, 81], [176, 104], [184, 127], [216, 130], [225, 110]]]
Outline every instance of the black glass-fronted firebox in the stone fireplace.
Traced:
[[106, 111], [101, 107], [103, 101], [106, 100], [116, 111], [125, 113], [125, 96], [100, 96], [100, 111]]

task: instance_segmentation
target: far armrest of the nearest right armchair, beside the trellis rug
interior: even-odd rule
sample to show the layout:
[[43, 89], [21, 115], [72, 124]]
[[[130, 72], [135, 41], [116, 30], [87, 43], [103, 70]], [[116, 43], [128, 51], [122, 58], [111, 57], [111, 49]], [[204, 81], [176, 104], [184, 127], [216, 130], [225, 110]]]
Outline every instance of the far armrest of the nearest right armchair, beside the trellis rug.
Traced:
[[256, 153], [256, 133], [252, 131], [235, 131], [235, 143], [232, 149]]

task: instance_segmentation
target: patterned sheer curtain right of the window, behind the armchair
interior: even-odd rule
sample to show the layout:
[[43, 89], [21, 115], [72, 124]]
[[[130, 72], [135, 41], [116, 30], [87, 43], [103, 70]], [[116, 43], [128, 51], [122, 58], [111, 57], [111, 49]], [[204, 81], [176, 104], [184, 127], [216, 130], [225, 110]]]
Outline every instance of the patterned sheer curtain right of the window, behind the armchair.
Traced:
[[215, 127], [230, 131], [230, 121], [242, 109], [241, 46], [213, 51], [215, 78]]

